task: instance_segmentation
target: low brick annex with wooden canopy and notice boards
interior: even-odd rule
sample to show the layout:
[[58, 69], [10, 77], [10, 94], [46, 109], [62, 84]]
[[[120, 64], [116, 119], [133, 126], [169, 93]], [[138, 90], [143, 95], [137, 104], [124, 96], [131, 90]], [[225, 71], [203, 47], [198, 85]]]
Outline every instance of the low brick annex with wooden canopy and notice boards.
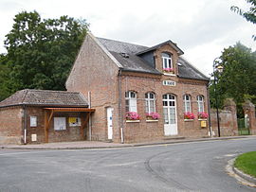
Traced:
[[0, 144], [84, 140], [93, 112], [77, 92], [18, 91], [0, 102]]

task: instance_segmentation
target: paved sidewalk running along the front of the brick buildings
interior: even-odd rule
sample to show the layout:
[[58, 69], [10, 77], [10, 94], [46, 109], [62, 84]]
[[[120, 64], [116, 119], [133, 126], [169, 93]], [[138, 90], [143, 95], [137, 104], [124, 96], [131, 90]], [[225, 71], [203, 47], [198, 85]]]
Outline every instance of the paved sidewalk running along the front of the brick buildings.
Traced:
[[168, 139], [158, 140], [145, 143], [133, 144], [119, 144], [119, 143], [106, 143], [99, 141], [77, 141], [77, 142], [60, 142], [60, 143], [47, 143], [47, 144], [29, 144], [29, 145], [0, 145], [0, 148], [8, 149], [90, 149], [90, 148], [128, 148], [128, 147], [141, 147], [152, 145], [164, 145], [175, 143], [188, 143], [188, 142], [202, 142], [214, 140], [229, 140], [229, 139], [243, 139], [243, 138], [256, 138], [255, 135], [243, 136], [229, 136], [229, 137], [212, 137], [212, 138], [190, 138], [190, 139]]

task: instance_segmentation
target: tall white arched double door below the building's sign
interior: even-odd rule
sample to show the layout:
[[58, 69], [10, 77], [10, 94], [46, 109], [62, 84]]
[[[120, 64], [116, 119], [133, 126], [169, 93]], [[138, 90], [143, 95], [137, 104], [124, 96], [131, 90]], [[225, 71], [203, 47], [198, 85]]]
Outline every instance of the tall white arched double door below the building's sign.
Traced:
[[166, 136], [177, 135], [176, 98], [174, 95], [163, 96], [163, 117], [164, 134]]

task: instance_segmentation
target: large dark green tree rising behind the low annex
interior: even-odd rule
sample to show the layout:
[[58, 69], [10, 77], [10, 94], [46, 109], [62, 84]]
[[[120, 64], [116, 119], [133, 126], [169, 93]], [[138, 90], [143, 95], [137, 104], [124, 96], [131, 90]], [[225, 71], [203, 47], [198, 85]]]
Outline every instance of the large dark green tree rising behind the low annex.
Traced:
[[25, 89], [65, 90], [64, 82], [88, 30], [85, 20], [42, 19], [23, 11], [6, 36], [11, 93]]

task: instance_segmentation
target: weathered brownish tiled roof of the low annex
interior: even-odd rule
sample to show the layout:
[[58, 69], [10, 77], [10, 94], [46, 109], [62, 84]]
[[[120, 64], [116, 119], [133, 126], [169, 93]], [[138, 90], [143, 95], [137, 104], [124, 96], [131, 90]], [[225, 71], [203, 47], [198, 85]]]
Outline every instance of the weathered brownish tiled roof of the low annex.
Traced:
[[85, 98], [77, 92], [32, 89], [18, 91], [0, 102], [0, 107], [14, 105], [88, 107]]

